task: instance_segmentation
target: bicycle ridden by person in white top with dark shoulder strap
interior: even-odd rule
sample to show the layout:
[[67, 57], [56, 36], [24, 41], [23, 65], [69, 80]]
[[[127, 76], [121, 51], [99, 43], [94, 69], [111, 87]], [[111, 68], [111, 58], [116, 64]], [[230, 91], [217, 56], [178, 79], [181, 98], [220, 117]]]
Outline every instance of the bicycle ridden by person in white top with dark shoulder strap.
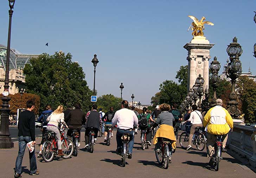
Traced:
[[[194, 145], [196, 145], [196, 148], [199, 151], [204, 150], [205, 145], [206, 145], [206, 138], [201, 129], [202, 129], [201, 127], [197, 127], [195, 129], [194, 138], [192, 140], [192, 143]], [[183, 148], [183, 149], [187, 148], [188, 138], [189, 138], [189, 133], [187, 133], [186, 131], [180, 134], [179, 141], [180, 141], [181, 148]]]

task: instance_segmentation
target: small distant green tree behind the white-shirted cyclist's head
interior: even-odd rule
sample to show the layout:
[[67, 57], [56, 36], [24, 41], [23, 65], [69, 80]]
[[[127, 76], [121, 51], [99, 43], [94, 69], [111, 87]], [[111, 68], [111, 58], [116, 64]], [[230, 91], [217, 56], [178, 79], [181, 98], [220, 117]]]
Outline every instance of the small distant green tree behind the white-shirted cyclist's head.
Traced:
[[114, 107], [114, 111], [121, 109], [121, 98], [115, 97], [113, 94], [106, 94], [98, 97], [98, 108], [102, 108], [104, 112], [109, 111], [109, 108]]

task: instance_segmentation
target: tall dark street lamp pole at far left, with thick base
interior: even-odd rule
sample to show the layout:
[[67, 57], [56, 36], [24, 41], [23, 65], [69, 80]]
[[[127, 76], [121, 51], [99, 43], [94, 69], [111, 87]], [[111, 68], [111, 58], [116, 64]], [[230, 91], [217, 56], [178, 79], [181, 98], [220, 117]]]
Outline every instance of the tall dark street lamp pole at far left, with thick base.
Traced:
[[11, 98], [9, 95], [9, 61], [10, 61], [10, 46], [11, 46], [11, 26], [12, 26], [12, 14], [15, 0], [9, 0], [9, 29], [8, 29], [8, 42], [7, 42], [7, 56], [5, 67], [5, 85], [4, 96], [1, 98], [3, 104], [1, 111], [1, 125], [0, 125], [0, 148], [13, 148], [12, 138], [9, 133], [9, 101]]

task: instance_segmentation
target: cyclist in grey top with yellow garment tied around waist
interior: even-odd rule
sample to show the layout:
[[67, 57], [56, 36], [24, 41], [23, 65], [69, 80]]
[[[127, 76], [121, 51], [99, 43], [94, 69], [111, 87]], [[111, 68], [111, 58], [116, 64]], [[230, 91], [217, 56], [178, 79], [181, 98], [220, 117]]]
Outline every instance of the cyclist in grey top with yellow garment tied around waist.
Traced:
[[[171, 106], [166, 103], [161, 104], [159, 106], [159, 109], [162, 112], [158, 115], [155, 123], [153, 124], [153, 128], [157, 127], [158, 124], [160, 124], [153, 140], [156, 152], [159, 152], [161, 148], [161, 142], [158, 140], [159, 137], [168, 138], [169, 140], [173, 141], [172, 148], [176, 149], [176, 137], [174, 135], [173, 129], [173, 125], [175, 125], [175, 119], [172, 113], [168, 112], [170, 108]], [[170, 161], [171, 160], [169, 159], [169, 162]]]

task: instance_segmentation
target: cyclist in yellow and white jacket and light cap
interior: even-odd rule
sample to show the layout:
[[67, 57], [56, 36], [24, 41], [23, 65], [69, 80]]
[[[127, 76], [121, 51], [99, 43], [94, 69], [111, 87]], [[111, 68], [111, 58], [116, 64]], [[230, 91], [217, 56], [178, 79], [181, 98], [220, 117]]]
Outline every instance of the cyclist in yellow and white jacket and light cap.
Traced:
[[214, 146], [217, 141], [217, 135], [223, 135], [222, 140], [225, 139], [230, 129], [233, 129], [233, 120], [229, 112], [222, 107], [222, 100], [216, 100], [216, 106], [209, 109], [204, 116], [203, 125], [207, 131], [207, 147], [208, 155], [210, 157], [209, 164], [214, 162]]

